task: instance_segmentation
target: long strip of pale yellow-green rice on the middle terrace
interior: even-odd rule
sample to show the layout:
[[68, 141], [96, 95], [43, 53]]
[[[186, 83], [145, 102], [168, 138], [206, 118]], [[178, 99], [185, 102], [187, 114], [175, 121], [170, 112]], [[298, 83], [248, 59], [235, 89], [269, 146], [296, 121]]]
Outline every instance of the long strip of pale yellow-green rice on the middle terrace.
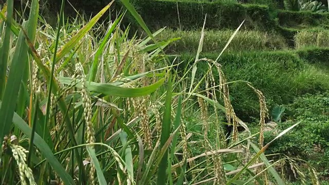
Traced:
[[[207, 30], [203, 42], [203, 52], [221, 52], [234, 30]], [[191, 52], [196, 53], [200, 38], [200, 31], [182, 31], [166, 29], [157, 38], [169, 40], [180, 38], [171, 44], [166, 51], [169, 53]], [[280, 50], [287, 48], [285, 39], [276, 33], [243, 30], [234, 36], [227, 51], [249, 50]]]

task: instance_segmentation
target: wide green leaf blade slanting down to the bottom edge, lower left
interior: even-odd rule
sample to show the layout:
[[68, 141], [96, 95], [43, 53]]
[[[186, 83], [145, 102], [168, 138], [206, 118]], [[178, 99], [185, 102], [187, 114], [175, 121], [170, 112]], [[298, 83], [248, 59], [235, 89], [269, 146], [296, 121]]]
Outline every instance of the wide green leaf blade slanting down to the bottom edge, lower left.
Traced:
[[[0, 107], [2, 106], [2, 102], [0, 102]], [[31, 139], [32, 129], [28, 126], [28, 124], [16, 113], [13, 114], [12, 122], [15, 126], [20, 128], [20, 130]], [[69, 174], [62, 167], [57, 158], [53, 155], [52, 151], [49, 149], [47, 143], [39, 136], [34, 133], [33, 143], [36, 147], [38, 147], [39, 151], [44, 155], [46, 160], [49, 162], [53, 170], [58, 174], [58, 176], [63, 180], [65, 184], [76, 184], [75, 181], [69, 176]]]

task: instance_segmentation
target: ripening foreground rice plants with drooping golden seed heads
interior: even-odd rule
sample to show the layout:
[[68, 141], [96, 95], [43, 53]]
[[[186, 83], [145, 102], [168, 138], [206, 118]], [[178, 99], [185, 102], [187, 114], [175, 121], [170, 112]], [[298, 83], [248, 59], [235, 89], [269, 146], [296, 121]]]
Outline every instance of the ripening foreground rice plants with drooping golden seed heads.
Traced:
[[[113, 2], [88, 22], [68, 24], [63, 22], [62, 1], [55, 29], [46, 23], [40, 26], [38, 2], [31, 1], [29, 19], [23, 25], [11, 18], [13, 1], [8, 1], [6, 15], [0, 14], [5, 30], [0, 68], [9, 67], [8, 76], [2, 73], [0, 90], [2, 184], [248, 184], [267, 182], [265, 173], [271, 181], [284, 184], [263, 155], [270, 143], [239, 136], [238, 124], [248, 127], [234, 113], [225, 73], [217, 61], [196, 57], [193, 69], [177, 76], [163, 53], [170, 41], [157, 42], [157, 33], [148, 30], [129, 1], [122, 3], [148, 38], [129, 39], [129, 28], [119, 29], [119, 16], [96, 39], [92, 29]], [[151, 40], [155, 44], [148, 45]], [[202, 40], [203, 36], [198, 48]], [[214, 81], [208, 70], [203, 80], [191, 83], [189, 76], [198, 72], [198, 62], [213, 66], [220, 79]], [[198, 88], [200, 83], [207, 88]], [[262, 105], [262, 134], [266, 104], [261, 92], [250, 88]], [[215, 94], [222, 95], [223, 105], [211, 96]], [[193, 110], [191, 97], [195, 96], [200, 105], [218, 113], [214, 125], [226, 117], [234, 129], [228, 144], [217, 135], [216, 143], [209, 142], [209, 150], [201, 148], [200, 155], [190, 152], [191, 144], [207, 143], [209, 138], [192, 140], [199, 133], [188, 132], [184, 121], [184, 115]], [[203, 115], [206, 127], [207, 112]], [[215, 133], [220, 132], [217, 126]], [[251, 165], [257, 160], [266, 169], [254, 174], [248, 168], [256, 168]], [[225, 164], [230, 164], [228, 172]], [[244, 172], [247, 180], [239, 180]]]

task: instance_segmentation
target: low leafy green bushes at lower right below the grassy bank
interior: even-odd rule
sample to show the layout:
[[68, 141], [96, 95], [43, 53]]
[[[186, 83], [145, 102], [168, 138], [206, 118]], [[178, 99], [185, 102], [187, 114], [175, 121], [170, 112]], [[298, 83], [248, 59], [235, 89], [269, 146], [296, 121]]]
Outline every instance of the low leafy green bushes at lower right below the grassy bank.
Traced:
[[[271, 143], [266, 153], [280, 153], [288, 157], [299, 157], [316, 167], [320, 178], [328, 175], [329, 161], [329, 92], [306, 94], [298, 97], [286, 108], [294, 113], [294, 118], [279, 123], [275, 130], [265, 132], [265, 142], [275, 138], [275, 133], [300, 121], [293, 131]], [[322, 176], [322, 177], [321, 177]]]

